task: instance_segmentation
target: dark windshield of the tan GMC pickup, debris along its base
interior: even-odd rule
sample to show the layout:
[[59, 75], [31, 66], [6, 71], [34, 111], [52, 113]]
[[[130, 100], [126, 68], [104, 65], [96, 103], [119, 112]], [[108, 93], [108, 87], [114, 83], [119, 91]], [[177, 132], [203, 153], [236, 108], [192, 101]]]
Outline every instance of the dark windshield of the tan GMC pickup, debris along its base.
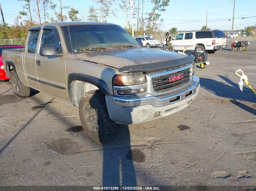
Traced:
[[62, 30], [70, 53], [140, 47], [136, 40], [118, 25], [69, 25], [63, 26]]

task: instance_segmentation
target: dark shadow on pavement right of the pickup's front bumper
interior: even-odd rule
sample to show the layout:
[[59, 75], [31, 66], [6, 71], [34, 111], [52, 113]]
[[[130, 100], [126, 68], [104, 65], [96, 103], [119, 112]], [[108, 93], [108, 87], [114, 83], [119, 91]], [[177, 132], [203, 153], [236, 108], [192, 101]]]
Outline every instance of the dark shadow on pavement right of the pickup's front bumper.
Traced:
[[[238, 84], [234, 83], [225, 76], [218, 75], [226, 82], [219, 82], [209, 78], [200, 78], [201, 87], [210, 91], [211, 93], [219, 96], [229, 98], [229, 103], [232, 103], [241, 109], [248, 111], [256, 115], [256, 103], [255, 95], [250, 88], [244, 85], [243, 92], [238, 87]], [[238, 79], [239, 80], [239, 79]], [[237, 101], [239, 100], [239, 101]], [[252, 102], [252, 103], [241, 103], [240, 101]]]

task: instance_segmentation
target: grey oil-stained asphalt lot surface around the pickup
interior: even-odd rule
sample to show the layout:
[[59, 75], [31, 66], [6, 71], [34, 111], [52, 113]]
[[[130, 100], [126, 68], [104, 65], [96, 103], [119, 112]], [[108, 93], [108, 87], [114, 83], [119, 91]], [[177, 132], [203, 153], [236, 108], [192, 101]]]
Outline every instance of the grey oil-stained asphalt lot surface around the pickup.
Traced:
[[[228, 48], [197, 64], [201, 88], [170, 116], [120, 126], [97, 145], [83, 133], [78, 108], [38, 93], [16, 99], [0, 84], [0, 185], [256, 185], [256, 39], [247, 51]], [[239, 39], [238, 39], [239, 40]], [[120, 116], [122, 117], [122, 116]]]

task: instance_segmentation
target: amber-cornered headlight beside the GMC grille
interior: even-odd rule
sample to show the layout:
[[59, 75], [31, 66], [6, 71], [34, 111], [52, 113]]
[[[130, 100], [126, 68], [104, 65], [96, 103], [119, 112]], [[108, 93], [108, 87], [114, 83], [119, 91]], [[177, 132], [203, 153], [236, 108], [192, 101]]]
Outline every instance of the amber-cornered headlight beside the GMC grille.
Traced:
[[129, 86], [145, 83], [145, 74], [118, 74], [113, 77], [113, 85], [115, 86]]

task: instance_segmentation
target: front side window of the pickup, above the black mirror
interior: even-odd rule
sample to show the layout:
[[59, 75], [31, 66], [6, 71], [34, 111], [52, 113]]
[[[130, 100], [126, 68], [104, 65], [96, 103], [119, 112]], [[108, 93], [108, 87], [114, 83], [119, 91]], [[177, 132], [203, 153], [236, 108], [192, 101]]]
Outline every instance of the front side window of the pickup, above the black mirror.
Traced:
[[60, 42], [53, 30], [44, 29], [42, 33], [41, 46], [44, 45], [55, 45], [59, 50]]

